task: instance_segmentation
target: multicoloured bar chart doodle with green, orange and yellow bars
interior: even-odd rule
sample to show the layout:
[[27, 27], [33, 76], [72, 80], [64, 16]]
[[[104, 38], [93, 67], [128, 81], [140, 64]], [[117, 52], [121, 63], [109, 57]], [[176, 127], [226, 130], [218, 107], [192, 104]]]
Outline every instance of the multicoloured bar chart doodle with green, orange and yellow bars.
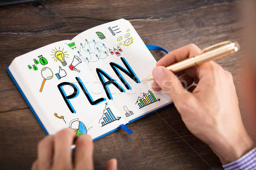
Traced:
[[[156, 99], [152, 91], [148, 90], [148, 93], [143, 93], [143, 97], [138, 96], [137, 102], [140, 108], [143, 108], [144, 106], [150, 105], [154, 102], [160, 101], [160, 99]], [[139, 109], [140, 109], [139, 108]]]

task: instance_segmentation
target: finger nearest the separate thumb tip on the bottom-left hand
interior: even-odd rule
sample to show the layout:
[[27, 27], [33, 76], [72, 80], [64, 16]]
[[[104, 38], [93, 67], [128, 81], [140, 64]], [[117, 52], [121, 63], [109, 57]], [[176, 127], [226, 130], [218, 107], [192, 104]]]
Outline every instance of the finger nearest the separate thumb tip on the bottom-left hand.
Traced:
[[93, 140], [90, 135], [81, 135], [76, 139], [75, 169], [93, 170]]

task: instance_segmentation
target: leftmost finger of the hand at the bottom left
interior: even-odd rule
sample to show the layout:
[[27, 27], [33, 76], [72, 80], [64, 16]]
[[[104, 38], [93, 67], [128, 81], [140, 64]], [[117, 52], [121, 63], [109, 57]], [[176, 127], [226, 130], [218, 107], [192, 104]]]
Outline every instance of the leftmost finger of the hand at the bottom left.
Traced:
[[45, 137], [38, 143], [38, 169], [49, 169], [53, 155], [54, 135]]

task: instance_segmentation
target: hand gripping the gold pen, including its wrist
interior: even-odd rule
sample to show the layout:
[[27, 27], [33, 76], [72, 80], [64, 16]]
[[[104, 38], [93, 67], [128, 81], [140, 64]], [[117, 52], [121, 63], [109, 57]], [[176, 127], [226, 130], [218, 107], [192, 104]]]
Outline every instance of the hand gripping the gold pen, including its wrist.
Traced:
[[[227, 164], [253, 147], [241, 121], [232, 75], [213, 61], [180, 72], [179, 78], [165, 68], [200, 53], [198, 46], [190, 44], [160, 59], [152, 71], [152, 88], [169, 94], [186, 127]], [[198, 85], [192, 92], [183, 87], [193, 82]]]

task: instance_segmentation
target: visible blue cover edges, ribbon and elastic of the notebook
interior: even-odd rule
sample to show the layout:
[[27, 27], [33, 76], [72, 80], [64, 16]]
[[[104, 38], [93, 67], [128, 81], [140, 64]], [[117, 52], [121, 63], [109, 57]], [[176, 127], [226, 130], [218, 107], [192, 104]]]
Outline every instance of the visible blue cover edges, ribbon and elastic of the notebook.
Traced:
[[[157, 46], [157, 45], [149, 45], [149, 44], [146, 44], [146, 47], [148, 48], [148, 50], [159, 50], [159, 51], [164, 51], [164, 52], [168, 53], [168, 51], [167, 51], [166, 49], [164, 49], [163, 47]], [[27, 105], [29, 106], [30, 110], [31, 110], [32, 113], [35, 115], [35, 118], [38, 120], [39, 124], [40, 124], [41, 127], [43, 128], [44, 132], [45, 132], [47, 135], [49, 135], [48, 131], [47, 131], [46, 128], [44, 127], [44, 125], [43, 125], [43, 123], [41, 122], [41, 120], [39, 119], [38, 115], [35, 113], [35, 110], [32, 108], [32, 106], [30, 105], [30, 103], [29, 103], [28, 99], [26, 98], [25, 94], [23, 93], [23, 91], [21, 90], [20, 86], [18, 85], [18, 83], [16, 82], [15, 78], [13, 77], [11, 71], [9, 70], [9, 66], [8, 66], [6, 69], [7, 69], [7, 72], [8, 72], [8, 74], [9, 74], [9, 76], [11, 77], [12, 81], [13, 81], [14, 84], [16, 85], [17, 89], [20, 91], [20, 94], [21, 94], [21, 95], [23, 96], [23, 98], [25, 99], [25, 101], [26, 101]], [[170, 106], [170, 105], [173, 105], [173, 103], [171, 103], [171, 104], [169, 104], [169, 105], [166, 105], [166, 106], [164, 106], [164, 107], [162, 107], [162, 108], [159, 108], [159, 109], [157, 109], [157, 110], [154, 110], [154, 111], [152, 111], [152, 112], [150, 112], [150, 113], [147, 113], [147, 114], [145, 114], [145, 115], [143, 115], [143, 116], [140, 116], [140, 117], [137, 117], [137, 118], [135, 118], [135, 119], [132, 119], [132, 120], [130, 120], [126, 125], [120, 125], [120, 127], [117, 127], [117, 128], [115, 128], [115, 129], [109, 131], [108, 133], [105, 133], [105, 134], [103, 134], [103, 135], [101, 135], [101, 136], [99, 136], [99, 137], [94, 138], [93, 141], [95, 141], [95, 140], [97, 140], [97, 139], [99, 139], [99, 138], [101, 138], [101, 137], [103, 137], [103, 136], [106, 136], [106, 135], [108, 135], [109, 133], [112, 133], [112, 132], [114, 132], [114, 131], [116, 131], [116, 130], [118, 130], [118, 129], [120, 129], [120, 128], [124, 129], [124, 130], [127, 131], [129, 134], [131, 134], [131, 133], [132, 133], [131, 130], [129, 131], [128, 128], [125, 128], [125, 127], [127, 127], [131, 122], [134, 122], [135, 120], [138, 120], [138, 119], [140, 119], [140, 118], [143, 118], [143, 117], [145, 117], [145, 116], [147, 116], [147, 115], [149, 115], [149, 114], [155, 113], [156, 111], [159, 111], [159, 110], [161, 110], [161, 109], [163, 109], [163, 108], [166, 108], [166, 107], [168, 107], [168, 106]]]

